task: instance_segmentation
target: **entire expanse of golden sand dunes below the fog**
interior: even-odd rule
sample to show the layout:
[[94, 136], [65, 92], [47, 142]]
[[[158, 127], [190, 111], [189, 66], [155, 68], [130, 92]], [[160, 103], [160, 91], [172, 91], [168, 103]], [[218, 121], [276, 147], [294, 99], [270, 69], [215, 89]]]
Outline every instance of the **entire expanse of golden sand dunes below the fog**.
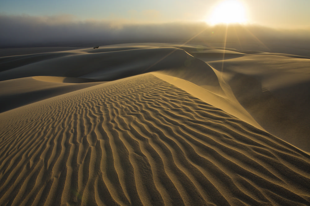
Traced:
[[310, 204], [309, 58], [38, 50], [0, 58], [0, 205]]

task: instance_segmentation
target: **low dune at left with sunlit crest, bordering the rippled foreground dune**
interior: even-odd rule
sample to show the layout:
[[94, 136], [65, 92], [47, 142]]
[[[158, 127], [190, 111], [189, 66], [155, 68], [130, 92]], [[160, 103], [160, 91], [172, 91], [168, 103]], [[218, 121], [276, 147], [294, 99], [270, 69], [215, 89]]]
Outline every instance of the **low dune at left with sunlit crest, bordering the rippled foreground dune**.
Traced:
[[24, 77], [0, 81], [0, 88], [2, 88], [0, 90], [0, 112], [98, 84], [103, 84], [103, 82], [89, 82], [89, 79], [51, 76]]

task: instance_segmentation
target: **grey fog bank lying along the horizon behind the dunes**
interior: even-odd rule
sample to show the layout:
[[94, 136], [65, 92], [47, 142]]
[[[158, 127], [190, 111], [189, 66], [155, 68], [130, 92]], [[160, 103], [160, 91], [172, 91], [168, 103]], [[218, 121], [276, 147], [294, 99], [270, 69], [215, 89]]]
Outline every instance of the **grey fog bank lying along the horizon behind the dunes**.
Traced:
[[[209, 26], [200, 23], [124, 24], [117, 21], [77, 21], [70, 16], [33, 17], [0, 15], [0, 47], [88, 47], [131, 42], [205, 42], [267, 52], [307, 54], [310, 29], [273, 29], [258, 25]], [[232, 46], [232, 44], [234, 46]], [[298, 48], [294, 52], [294, 49]], [[303, 52], [300, 52], [303, 50]], [[310, 55], [310, 52], [309, 52]]]

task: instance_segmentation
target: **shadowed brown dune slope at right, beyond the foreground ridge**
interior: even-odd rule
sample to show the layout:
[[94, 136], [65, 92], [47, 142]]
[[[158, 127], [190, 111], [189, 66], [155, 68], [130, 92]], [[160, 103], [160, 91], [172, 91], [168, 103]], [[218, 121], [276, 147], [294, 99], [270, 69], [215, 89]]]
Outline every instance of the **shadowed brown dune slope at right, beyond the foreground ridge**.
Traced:
[[208, 62], [266, 131], [310, 152], [310, 59], [246, 55]]

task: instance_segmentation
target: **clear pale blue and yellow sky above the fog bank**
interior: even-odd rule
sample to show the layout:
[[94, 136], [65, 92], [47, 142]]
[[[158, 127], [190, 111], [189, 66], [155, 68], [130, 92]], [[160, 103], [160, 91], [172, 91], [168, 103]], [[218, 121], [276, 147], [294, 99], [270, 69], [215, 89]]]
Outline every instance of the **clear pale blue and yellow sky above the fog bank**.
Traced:
[[[65, 20], [105, 20], [124, 23], [206, 21], [227, 0], [0, 0], [1, 15], [60, 16]], [[244, 11], [223, 11], [244, 20], [277, 28], [309, 28], [310, 0], [228, 0]], [[225, 17], [228, 18], [228, 17]]]

